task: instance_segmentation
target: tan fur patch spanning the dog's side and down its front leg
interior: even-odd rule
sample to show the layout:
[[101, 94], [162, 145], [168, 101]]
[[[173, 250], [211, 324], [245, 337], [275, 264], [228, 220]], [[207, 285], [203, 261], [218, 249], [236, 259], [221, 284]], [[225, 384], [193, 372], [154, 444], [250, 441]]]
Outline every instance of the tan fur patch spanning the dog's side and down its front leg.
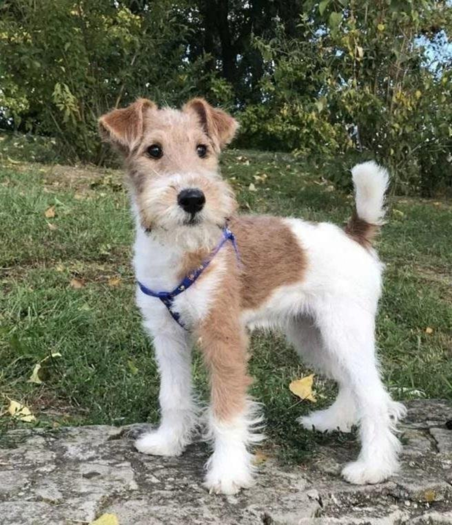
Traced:
[[[246, 373], [248, 341], [240, 321], [241, 311], [258, 308], [275, 288], [301, 280], [306, 268], [303, 250], [280, 218], [233, 217], [230, 227], [237, 238], [241, 264], [231, 245], [223, 248], [228, 250], [228, 271], [198, 331], [211, 376], [213, 411], [220, 419], [229, 419], [243, 410], [251, 383]], [[194, 268], [203, 255], [191, 257]]]

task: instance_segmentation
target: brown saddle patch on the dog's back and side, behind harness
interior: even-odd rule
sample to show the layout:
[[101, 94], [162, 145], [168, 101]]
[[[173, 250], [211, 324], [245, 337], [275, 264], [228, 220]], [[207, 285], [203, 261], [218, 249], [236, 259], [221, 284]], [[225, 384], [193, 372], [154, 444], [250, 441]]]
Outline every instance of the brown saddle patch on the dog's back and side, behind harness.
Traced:
[[239, 216], [230, 221], [242, 263], [241, 307], [259, 308], [275, 288], [303, 279], [306, 255], [279, 217]]

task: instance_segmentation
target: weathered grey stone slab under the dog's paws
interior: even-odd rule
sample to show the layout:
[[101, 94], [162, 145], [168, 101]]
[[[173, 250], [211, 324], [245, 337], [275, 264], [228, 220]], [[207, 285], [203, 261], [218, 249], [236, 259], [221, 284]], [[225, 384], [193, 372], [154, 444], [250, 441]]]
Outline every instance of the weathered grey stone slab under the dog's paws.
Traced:
[[452, 405], [408, 406], [402, 468], [386, 483], [346, 484], [338, 471], [357, 445], [332, 437], [303, 465], [264, 461], [256, 485], [233, 497], [202, 487], [202, 443], [160, 458], [133, 449], [135, 427], [14, 430], [7, 435], [14, 448], [0, 448], [0, 524], [89, 523], [105, 512], [121, 525], [452, 524], [452, 430], [445, 427]]

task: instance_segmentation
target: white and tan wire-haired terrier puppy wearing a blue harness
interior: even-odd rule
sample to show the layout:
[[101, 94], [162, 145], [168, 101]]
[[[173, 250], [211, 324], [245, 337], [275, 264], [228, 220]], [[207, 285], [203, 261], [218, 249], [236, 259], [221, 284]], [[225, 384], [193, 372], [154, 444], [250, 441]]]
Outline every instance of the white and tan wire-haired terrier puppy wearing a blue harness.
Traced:
[[160, 425], [135, 447], [178, 456], [190, 443], [199, 419], [190, 373], [197, 342], [211, 387], [213, 453], [204, 484], [224, 494], [250, 487], [250, 446], [262, 438], [262, 417], [246, 394], [248, 333], [278, 329], [339, 387], [335, 402], [301, 417], [301, 425], [350, 432], [359, 424], [362, 448], [342, 476], [381, 482], [397, 469], [395, 425], [405, 414], [385, 390], [375, 355], [383, 265], [372, 241], [383, 224], [388, 174], [374, 162], [353, 168], [356, 209], [345, 229], [238, 215], [218, 166], [237, 128], [202, 98], [181, 110], [138, 99], [99, 119], [101, 137], [119, 150], [128, 172], [136, 301], [161, 381]]

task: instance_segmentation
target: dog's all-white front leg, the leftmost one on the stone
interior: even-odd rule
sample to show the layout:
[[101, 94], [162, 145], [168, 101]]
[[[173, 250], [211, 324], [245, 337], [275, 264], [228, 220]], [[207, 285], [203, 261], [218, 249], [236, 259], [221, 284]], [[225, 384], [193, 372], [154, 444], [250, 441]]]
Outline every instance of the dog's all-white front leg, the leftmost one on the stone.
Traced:
[[[151, 330], [160, 372], [160, 425], [143, 434], [135, 447], [145, 454], [179, 456], [190, 443], [197, 423], [191, 381], [191, 343], [188, 335], [173, 320], [167, 330]], [[174, 323], [174, 325], [172, 324]], [[145, 323], [146, 325], [146, 323]]]

